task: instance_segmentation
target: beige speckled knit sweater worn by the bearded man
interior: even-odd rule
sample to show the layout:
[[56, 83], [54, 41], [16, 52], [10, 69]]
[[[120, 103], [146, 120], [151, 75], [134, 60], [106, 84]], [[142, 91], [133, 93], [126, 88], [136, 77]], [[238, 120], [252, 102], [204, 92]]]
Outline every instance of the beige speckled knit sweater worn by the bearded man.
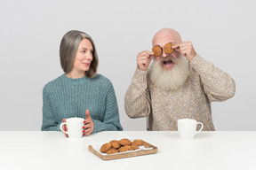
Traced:
[[189, 62], [190, 74], [176, 90], [154, 86], [148, 71], [136, 69], [124, 97], [130, 118], [148, 117], [149, 130], [177, 130], [177, 120], [190, 118], [215, 130], [211, 102], [222, 102], [235, 95], [235, 81], [198, 54]]

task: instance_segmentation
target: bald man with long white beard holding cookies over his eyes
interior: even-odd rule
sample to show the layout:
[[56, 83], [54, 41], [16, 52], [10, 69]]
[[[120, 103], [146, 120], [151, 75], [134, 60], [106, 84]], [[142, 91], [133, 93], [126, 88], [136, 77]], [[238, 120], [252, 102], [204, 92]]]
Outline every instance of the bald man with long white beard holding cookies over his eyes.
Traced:
[[[170, 42], [172, 53], [164, 50]], [[138, 54], [137, 69], [124, 98], [127, 115], [148, 117], [149, 130], [177, 130], [177, 120], [183, 118], [202, 122], [203, 130], [215, 130], [211, 103], [233, 97], [235, 81], [200, 57], [192, 43], [182, 42], [171, 28], [158, 31], [152, 44], [162, 48], [162, 53], [158, 57], [148, 50]]]

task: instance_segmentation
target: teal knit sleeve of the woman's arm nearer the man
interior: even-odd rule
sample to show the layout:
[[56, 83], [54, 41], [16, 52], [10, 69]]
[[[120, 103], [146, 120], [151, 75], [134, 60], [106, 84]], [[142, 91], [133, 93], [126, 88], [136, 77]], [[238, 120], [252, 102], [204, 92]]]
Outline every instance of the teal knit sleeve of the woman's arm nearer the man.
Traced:
[[123, 130], [120, 124], [115, 90], [113, 88], [112, 83], [110, 83], [109, 86], [110, 87], [106, 95], [106, 109], [104, 112], [103, 120], [93, 120], [94, 130], [92, 133], [97, 133], [100, 131]]

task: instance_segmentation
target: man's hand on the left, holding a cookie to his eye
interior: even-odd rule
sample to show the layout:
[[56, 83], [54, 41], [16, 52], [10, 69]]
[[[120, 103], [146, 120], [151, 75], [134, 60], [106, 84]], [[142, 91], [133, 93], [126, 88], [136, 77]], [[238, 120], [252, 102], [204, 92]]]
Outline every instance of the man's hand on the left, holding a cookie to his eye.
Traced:
[[140, 70], [146, 71], [152, 58], [154, 57], [154, 52], [149, 50], [144, 50], [137, 55], [137, 67]]

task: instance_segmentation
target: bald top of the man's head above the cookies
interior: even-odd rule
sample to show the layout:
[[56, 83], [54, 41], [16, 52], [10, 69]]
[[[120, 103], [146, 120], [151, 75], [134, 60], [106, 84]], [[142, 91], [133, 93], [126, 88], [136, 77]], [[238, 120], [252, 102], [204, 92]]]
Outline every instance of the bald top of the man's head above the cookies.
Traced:
[[180, 34], [172, 28], [163, 28], [154, 35], [152, 45], [164, 46], [168, 42], [173, 44], [181, 42]]

